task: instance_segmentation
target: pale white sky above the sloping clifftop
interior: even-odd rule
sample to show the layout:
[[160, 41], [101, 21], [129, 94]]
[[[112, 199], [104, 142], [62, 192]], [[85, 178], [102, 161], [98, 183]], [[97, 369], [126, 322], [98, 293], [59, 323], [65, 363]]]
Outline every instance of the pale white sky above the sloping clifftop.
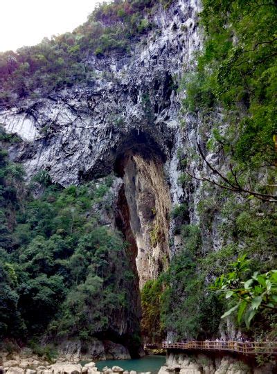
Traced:
[[0, 51], [33, 46], [83, 24], [100, 0], [1, 0]]

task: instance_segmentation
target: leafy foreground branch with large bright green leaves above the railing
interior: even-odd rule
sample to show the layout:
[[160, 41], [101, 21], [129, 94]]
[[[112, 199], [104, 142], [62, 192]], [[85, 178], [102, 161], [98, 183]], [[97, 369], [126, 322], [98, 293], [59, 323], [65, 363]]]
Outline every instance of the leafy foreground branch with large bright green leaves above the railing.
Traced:
[[222, 318], [236, 312], [238, 323], [244, 317], [244, 323], [249, 328], [251, 320], [261, 310], [277, 310], [277, 270], [259, 274], [258, 271], [247, 278], [249, 262], [244, 255], [231, 264], [231, 272], [222, 274], [213, 285], [214, 290], [220, 290], [233, 307], [227, 310]]

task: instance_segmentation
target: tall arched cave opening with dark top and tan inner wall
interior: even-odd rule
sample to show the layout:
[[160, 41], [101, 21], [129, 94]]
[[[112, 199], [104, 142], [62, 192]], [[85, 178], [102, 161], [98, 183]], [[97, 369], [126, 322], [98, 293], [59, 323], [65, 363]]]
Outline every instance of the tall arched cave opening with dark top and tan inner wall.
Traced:
[[[134, 303], [139, 319], [140, 290], [156, 279], [169, 261], [170, 191], [166, 156], [147, 134], [130, 134], [118, 145], [114, 172], [122, 179], [116, 202], [116, 227], [129, 243], [127, 254], [136, 278]], [[143, 341], [152, 342], [152, 332]]]

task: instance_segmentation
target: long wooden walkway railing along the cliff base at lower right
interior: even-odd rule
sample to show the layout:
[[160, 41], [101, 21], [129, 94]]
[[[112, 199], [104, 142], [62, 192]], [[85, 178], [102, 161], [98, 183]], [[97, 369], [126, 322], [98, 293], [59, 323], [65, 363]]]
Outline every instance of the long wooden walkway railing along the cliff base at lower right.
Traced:
[[162, 346], [166, 349], [229, 350], [244, 355], [277, 355], [277, 341], [188, 341], [186, 343], [163, 341]]

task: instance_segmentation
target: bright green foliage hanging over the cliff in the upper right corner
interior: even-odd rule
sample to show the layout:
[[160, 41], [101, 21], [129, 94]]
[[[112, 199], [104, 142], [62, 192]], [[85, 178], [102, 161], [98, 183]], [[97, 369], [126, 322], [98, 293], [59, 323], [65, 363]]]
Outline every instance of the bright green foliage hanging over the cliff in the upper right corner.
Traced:
[[242, 169], [272, 166], [276, 156], [276, 16], [273, 0], [204, 0], [204, 52], [184, 76], [188, 110], [226, 109], [224, 149]]

